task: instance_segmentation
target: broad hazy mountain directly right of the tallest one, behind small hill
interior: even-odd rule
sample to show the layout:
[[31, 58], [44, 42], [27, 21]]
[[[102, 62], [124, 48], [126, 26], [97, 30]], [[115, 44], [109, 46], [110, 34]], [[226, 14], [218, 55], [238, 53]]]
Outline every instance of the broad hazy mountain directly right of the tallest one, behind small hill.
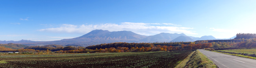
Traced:
[[169, 42], [179, 36], [186, 36], [184, 33], [178, 34], [178, 33], [160, 33], [157, 35], [148, 36], [141, 41], [144, 42]]

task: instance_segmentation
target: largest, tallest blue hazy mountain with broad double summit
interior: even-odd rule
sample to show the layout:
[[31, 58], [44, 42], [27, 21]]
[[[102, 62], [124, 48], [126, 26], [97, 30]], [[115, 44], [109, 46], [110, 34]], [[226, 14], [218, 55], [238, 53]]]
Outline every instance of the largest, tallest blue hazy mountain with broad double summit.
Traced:
[[47, 42], [34, 42], [30, 45], [48, 45], [48, 44], [59, 44], [59, 45], [80, 45], [80, 46], [90, 46], [102, 43], [111, 42], [139, 42], [147, 36], [139, 35], [133, 33], [132, 31], [107, 31], [107, 30], [93, 30], [81, 37], [76, 37], [73, 39], [63, 39], [56, 41]]

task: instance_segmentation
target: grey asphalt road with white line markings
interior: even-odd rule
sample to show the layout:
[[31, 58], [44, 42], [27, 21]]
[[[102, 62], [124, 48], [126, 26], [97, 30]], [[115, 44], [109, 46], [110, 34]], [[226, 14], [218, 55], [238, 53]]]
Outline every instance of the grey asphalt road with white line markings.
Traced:
[[206, 50], [199, 50], [219, 68], [256, 68], [256, 60], [233, 55], [226, 55]]

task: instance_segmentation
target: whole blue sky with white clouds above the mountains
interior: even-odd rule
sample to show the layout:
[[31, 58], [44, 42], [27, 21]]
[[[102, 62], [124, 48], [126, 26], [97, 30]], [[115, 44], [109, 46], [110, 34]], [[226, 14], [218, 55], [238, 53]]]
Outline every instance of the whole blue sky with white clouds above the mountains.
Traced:
[[230, 38], [256, 33], [256, 0], [0, 0], [0, 40], [50, 41], [95, 29]]

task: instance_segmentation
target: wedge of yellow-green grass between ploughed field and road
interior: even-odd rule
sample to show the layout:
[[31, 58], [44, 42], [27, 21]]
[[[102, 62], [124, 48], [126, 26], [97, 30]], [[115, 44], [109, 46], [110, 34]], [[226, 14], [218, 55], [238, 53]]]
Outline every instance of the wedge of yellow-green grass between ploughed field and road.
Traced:
[[200, 51], [196, 50], [175, 68], [217, 68], [217, 66]]

